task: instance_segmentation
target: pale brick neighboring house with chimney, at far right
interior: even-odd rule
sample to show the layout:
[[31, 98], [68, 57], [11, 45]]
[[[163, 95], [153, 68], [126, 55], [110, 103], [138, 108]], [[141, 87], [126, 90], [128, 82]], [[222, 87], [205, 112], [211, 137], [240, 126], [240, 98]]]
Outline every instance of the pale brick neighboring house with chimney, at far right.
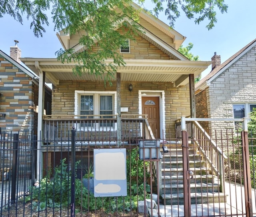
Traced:
[[[212, 71], [195, 85], [196, 117], [242, 118], [256, 108], [256, 39], [220, 63], [212, 57]], [[214, 135], [235, 129], [234, 122], [202, 122]]]

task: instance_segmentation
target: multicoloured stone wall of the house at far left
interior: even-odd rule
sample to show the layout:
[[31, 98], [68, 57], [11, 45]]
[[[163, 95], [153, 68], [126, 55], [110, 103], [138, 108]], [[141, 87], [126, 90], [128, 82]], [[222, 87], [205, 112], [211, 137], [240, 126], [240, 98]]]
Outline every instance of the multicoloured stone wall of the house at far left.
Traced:
[[2, 130], [31, 132], [34, 129], [32, 78], [0, 56], [0, 118]]

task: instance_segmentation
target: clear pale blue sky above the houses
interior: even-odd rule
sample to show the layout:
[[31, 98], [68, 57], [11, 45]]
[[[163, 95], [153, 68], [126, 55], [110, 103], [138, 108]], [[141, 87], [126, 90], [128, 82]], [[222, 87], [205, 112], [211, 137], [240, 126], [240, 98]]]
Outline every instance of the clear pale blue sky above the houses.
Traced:
[[[194, 46], [190, 52], [198, 55], [200, 60], [211, 61], [216, 52], [223, 63], [256, 38], [256, 0], [225, 0], [225, 3], [228, 4], [228, 12], [216, 11], [218, 21], [212, 30], [206, 28], [207, 20], [198, 25], [184, 14], [174, 24], [174, 30], [186, 37], [183, 46], [191, 42]], [[168, 24], [164, 12], [158, 18]], [[53, 25], [46, 27], [42, 38], [36, 38], [30, 30], [30, 22], [24, 20], [22, 25], [4, 15], [0, 18], [0, 50], [9, 55], [14, 40], [19, 41], [23, 58], [55, 58], [55, 52], [62, 48]], [[202, 77], [210, 70], [211, 66], [202, 73]]]

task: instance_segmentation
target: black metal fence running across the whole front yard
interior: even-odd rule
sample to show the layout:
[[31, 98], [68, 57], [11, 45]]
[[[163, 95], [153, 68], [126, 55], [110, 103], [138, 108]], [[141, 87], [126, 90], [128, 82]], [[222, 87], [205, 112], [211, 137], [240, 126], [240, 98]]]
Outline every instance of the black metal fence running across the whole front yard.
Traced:
[[[198, 143], [206, 143], [202, 138], [198, 143], [188, 139], [188, 147], [184, 147], [180, 138], [168, 137], [168, 133], [165, 139], [153, 143], [140, 138], [136, 143], [122, 141], [120, 146], [102, 141], [102, 145], [95, 147], [81, 144], [74, 137], [68, 141], [52, 145], [37, 141], [31, 135], [1, 133], [1, 217], [185, 216], [184, 148], [189, 150], [189, 169], [193, 171], [188, 182], [191, 216], [256, 215], [256, 145], [253, 136], [249, 136], [247, 143], [250, 175], [246, 179], [244, 143], [240, 133], [233, 133], [232, 137], [222, 136], [218, 142], [215, 140], [227, 156], [222, 187], [218, 173], [209, 163], [211, 159], [204, 157], [206, 149], [198, 146]], [[39, 152], [38, 144], [41, 145]], [[164, 153], [162, 145], [168, 152]], [[209, 146], [207, 151], [213, 153], [214, 148]], [[94, 196], [95, 149], [126, 150], [127, 195]], [[108, 161], [119, 166], [118, 159], [106, 158], [105, 162]], [[111, 168], [105, 173], [111, 174]], [[245, 193], [248, 178], [252, 191]], [[103, 188], [103, 192], [107, 189]], [[245, 197], [251, 198], [252, 207]]]

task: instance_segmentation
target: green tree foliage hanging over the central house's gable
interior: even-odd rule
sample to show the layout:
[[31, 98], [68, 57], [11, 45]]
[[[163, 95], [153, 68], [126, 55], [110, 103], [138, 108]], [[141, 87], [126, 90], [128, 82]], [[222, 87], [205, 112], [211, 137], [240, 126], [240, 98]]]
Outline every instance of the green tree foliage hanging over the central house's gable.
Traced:
[[[150, 4], [146, 0], [137, 3], [141, 6]], [[224, 0], [152, 0], [151, 3], [154, 9], [148, 12], [158, 16], [164, 11], [171, 27], [183, 11], [189, 19], [198, 15], [195, 18], [197, 24], [208, 19], [206, 27], [211, 29], [217, 22], [216, 9], [224, 13], [228, 8]], [[0, 17], [9, 14], [22, 23], [26, 16], [31, 20], [30, 28], [36, 37], [43, 36], [45, 26], [49, 25], [48, 11], [52, 13], [54, 30], [80, 36], [78, 44], [82, 49], [61, 49], [56, 52], [58, 59], [76, 62], [75, 74], [96, 74], [105, 81], [111, 80], [118, 66], [125, 65], [116, 50], [126, 39], [134, 40], [134, 34], [141, 31], [137, 25], [138, 11], [130, 0], [0, 0]], [[130, 20], [124, 22], [126, 16]], [[92, 50], [95, 44], [99, 47], [96, 51]], [[106, 63], [107, 59], [112, 62]]]

